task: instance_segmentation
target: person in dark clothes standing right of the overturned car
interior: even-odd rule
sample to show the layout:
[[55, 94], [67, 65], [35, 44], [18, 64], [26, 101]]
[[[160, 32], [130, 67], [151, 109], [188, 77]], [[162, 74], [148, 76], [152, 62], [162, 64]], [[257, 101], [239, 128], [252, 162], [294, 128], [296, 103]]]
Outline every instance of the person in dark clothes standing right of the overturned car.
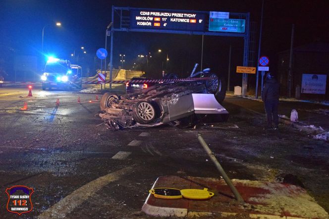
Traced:
[[278, 129], [279, 118], [277, 115], [277, 107], [279, 104], [279, 83], [272, 73], [268, 73], [262, 92], [262, 100], [265, 105], [265, 111], [268, 120], [268, 129], [272, 129], [272, 121], [274, 122], [274, 130]]

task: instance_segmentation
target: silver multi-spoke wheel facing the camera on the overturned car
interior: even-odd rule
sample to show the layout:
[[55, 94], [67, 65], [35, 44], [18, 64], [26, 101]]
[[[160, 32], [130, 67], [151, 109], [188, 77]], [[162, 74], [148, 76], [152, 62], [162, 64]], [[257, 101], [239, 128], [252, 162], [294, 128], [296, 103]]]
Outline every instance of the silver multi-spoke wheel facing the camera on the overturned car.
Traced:
[[151, 103], [141, 101], [133, 107], [132, 116], [136, 122], [148, 124], [156, 118], [156, 110]]

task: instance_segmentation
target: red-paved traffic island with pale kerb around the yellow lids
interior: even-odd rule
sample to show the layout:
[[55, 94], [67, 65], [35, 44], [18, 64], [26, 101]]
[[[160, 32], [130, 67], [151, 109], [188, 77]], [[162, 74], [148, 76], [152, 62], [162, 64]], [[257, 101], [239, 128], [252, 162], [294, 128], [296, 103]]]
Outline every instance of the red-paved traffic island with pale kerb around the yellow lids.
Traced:
[[251, 218], [328, 219], [328, 213], [298, 186], [265, 181], [232, 179], [246, 205], [239, 205], [223, 179], [161, 176], [153, 188], [203, 189], [215, 195], [208, 200], [159, 199], [149, 194], [142, 211], [152, 216], [247, 216]]

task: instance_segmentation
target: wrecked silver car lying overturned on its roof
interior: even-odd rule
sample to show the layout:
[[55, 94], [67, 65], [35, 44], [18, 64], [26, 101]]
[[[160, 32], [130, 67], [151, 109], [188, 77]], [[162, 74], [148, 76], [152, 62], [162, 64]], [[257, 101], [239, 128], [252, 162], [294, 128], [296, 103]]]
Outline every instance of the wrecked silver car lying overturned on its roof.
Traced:
[[196, 67], [187, 79], [167, 79], [123, 96], [105, 93], [99, 116], [113, 130], [226, 121], [228, 112], [220, 105], [225, 98], [225, 81], [209, 68], [195, 72]]

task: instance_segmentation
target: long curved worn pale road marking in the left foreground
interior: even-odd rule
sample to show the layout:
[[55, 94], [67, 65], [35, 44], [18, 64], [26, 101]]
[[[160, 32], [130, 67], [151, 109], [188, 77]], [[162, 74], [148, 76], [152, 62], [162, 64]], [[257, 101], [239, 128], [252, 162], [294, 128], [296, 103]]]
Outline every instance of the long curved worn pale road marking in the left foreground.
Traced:
[[71, 194], [57, 202], [55, 205], [47, 209], [41, 215], [39, 219], [49, 219], [49, 218], [65, 218], [70, 212], [72, 212], [76, 207], [81, 205], [84, 201], [89, 199], [98, 190], [109, 184], [110, 182], [118, 180], [123, 174], [131, 172], [132, 166], [128, 166], [119, 169], [115, 172], [109, 173], [105, 176], [99, 177], [77, 190], [73, 191]]

